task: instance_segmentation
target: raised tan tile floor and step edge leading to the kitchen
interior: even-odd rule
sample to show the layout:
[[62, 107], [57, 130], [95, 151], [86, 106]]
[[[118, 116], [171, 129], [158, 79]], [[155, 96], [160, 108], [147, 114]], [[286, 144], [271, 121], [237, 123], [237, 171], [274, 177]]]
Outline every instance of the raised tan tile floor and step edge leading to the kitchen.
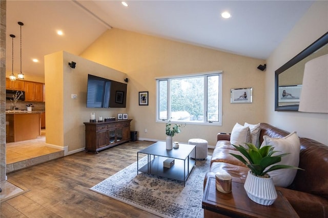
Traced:
[[7, 173], [64, 157], [64, 151], [46, 146], [46, 131], [37, 139], [6, 144]]

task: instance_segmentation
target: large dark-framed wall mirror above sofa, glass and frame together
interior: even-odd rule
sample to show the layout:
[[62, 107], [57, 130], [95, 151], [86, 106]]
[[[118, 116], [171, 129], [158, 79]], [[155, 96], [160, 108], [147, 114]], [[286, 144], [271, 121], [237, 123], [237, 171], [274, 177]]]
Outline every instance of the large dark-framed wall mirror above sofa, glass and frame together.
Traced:
[[275, 71], [275, 111], [298, 111], [305, 63], [328, 54], [328, 32]]

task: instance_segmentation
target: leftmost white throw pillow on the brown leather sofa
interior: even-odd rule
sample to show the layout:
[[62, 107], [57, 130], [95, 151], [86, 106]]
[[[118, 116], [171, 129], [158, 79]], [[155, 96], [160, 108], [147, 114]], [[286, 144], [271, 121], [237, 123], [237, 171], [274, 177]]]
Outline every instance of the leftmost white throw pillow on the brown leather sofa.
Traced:
[[233, 145], [241, 145], [247, 147], [245, 143], [251, 142], [251, 130], [248, 126], [240, 125], [236, 123], [232, 129], [230, 136], [230, 143]]

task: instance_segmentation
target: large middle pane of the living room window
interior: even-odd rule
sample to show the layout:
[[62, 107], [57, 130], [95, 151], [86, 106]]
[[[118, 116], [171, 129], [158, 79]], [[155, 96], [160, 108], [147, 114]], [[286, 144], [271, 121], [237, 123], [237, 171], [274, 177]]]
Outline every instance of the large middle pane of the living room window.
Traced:
[[203, 77], [171, 80], [171, 120], [203, 121]]

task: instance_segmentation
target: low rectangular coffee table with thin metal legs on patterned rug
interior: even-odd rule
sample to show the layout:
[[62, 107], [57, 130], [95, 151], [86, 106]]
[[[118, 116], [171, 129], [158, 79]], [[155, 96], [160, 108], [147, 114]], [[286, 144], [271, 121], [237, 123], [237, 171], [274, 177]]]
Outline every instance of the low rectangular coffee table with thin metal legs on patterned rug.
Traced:
[[[180, 144], [179, 148], [166, 149], [166, 142], [156, 142], [137, 152], [137, 172], [146, 172], [152, 175], [166, 177], [183, 182], [185, 186], [189, 173], [195, 165], [195, 161], [189, 158], [191, 152], [195, 152], [196, 146]], [[147, 154], [147, 163], [139, 168], [139, 154]], [[196, 157], [196, 156], [195, 156]], [[174, 159], [171, 168], [163, 167], [163, 161]]]

